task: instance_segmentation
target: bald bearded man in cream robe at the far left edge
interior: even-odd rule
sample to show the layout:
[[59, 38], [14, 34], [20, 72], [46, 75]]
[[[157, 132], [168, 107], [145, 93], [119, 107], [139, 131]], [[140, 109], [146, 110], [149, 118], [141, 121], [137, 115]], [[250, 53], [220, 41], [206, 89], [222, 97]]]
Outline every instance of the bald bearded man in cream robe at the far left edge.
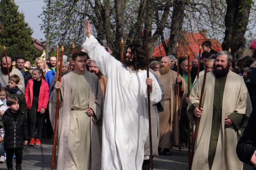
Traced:
[[[19, 84], [18, 87], [19, 89], [24, 93], [25, 92], [25, 81], [22, 73], [17, 69], [11, 66], [12, 59], [10, 57], [7, 57], [8, 60], [8, 66], [9, 66], [9, 72], [10, 76], [11, 75], [18, 75], [19, 76]], [[0, 83], [2, 84], [3, 87], [6, 87], [8, 85], [8, 71], [7, 71], [7, 64], [6, 64], [6, 59], [5, 57], [2, 58], [2, 64], [1, 64], [1, 71], [0, 71]]]

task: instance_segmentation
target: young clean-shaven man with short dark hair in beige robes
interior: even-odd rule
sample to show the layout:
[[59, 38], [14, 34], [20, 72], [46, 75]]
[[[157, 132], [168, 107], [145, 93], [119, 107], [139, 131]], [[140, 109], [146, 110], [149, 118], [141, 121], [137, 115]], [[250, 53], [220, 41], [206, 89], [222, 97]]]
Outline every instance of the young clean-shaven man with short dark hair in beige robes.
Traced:
[[[86, 53], [76, 51], [72, 56], [75, 71], [56, 82], [61, 90], [58, 119], [59, 170], [90, 170], [101, 168], [102, 91], [96, 75], [85, 71]], [[54, 127], [57, 92], [50, 98], [50, 118]]]

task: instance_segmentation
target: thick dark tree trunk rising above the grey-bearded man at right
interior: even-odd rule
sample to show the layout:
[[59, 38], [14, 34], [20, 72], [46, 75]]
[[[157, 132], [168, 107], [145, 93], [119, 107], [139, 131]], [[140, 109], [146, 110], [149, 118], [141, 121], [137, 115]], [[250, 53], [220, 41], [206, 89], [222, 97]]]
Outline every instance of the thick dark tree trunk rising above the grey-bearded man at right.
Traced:
[[253, 2], [246, 0], [226, 0], [225, 37], [222, 50], [231, 49], [235, 59], [242, 57], [250, 9]]

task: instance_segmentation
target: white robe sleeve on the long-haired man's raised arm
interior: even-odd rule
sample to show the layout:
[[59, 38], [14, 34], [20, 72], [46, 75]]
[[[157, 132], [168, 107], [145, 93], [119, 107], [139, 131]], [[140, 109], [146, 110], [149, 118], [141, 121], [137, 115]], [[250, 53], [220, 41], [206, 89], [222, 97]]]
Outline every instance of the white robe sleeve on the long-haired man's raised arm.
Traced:
[[106, 77], [122, 66], [122, 63], [112, 57], [93, 35], [85, 40], [82, 48], [88, 53], [90, 59], [96, 62], [101, 73]]

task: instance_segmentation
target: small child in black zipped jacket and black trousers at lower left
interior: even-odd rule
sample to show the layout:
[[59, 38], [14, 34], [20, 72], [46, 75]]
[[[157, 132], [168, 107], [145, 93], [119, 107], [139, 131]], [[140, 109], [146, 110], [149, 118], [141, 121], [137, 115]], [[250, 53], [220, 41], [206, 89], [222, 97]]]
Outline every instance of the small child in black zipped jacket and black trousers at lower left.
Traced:
[[6, 165], [8, 170], [13, 170], [12, 157], [15, 153], [16, 170], [21, 170], [23, 145], [28, 143], [28, 124], [25, 114], [19, 109], [19, 99], [17, 97], [8, 98], [6, 105], [9, 109], [2, 115], [5, 130]]

